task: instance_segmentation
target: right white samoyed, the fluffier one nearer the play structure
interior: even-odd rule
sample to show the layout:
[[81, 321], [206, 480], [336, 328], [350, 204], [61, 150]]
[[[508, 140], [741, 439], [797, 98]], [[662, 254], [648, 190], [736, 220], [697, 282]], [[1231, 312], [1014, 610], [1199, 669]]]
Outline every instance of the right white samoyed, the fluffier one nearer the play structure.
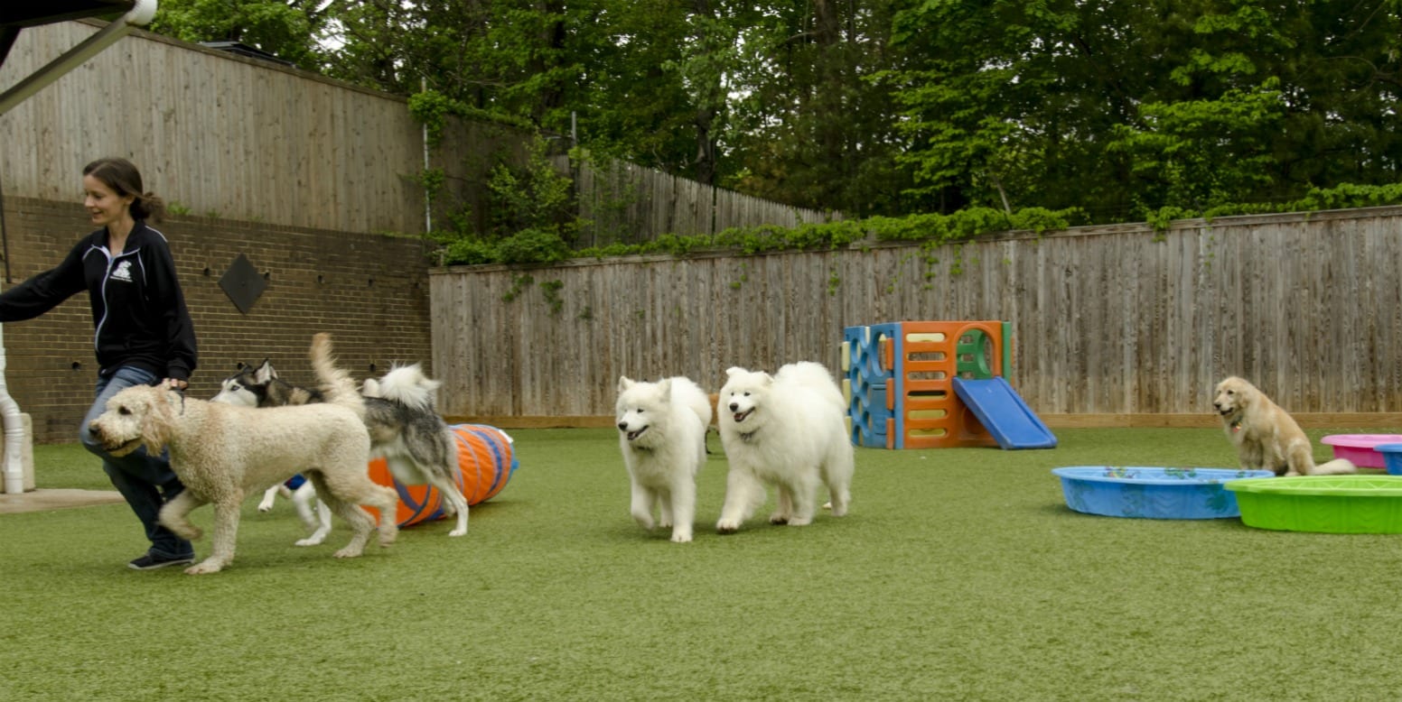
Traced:
[[721, 443], [730, 461], [725, 504], [715, 528], [740, 528], [764, 503], [765, 485], [778, 488], [773, 524], [813, 521], [817, 483], [827, 485], [833, 516], [851, 502], [852, 444], [843, 416], [847, 402], [822, 364], [789, 363], [774, 376], [729, 369], [721, 388]]

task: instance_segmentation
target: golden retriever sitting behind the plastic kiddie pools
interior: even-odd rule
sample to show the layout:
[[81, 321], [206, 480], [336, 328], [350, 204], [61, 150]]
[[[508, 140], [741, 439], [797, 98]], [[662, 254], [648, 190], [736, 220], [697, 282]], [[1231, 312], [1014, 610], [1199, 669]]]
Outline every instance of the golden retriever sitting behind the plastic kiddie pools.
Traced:
[[1276, 475], [1340, 475], [1359, 469], [1343, 458], [1315, 465], [1309, 439], [1300, 425], [1256, 385], [1235, 376], [1217, 384], [1213, 408], [1223, 432], [1237, 447], [1245, 469], [1272, 469]]

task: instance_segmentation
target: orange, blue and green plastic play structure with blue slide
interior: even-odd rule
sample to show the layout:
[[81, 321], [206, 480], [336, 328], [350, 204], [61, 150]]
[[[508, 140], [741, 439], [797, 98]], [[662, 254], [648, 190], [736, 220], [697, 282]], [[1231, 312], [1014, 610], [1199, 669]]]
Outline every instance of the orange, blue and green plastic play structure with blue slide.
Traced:
[[873, 448], [1053, 448], [1056, 436], [1004, 378], [1011, 324], [848, 326], [843, 394], [852, 444]]

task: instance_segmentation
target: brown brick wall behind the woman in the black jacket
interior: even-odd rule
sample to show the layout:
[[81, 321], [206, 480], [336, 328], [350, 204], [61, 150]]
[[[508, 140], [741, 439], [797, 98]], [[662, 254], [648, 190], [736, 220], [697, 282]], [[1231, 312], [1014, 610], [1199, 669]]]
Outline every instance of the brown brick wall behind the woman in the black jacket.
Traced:
[[[4, 199], [4, 290], [55, 266], [93, 230], [80, 205], [28, 198]], [[332, 332], [342, 367], [358, 380], [391, 363], [422, 363], [432, 373], [423, 241], [191, 216], [156, 228], [171, 242], [199, 339], [191, 397], [213, 397], [238, 362], [265, 357], [287, 381], [313, 383], [307, 347], [320, 331]], [[219, 286], [240, 254], [268, 282], [248, 314]], [[34, 418], [34, 440], [76, 440], [97, 378], [87, 294], [6, 324], [3, 335], [6, 383]]]

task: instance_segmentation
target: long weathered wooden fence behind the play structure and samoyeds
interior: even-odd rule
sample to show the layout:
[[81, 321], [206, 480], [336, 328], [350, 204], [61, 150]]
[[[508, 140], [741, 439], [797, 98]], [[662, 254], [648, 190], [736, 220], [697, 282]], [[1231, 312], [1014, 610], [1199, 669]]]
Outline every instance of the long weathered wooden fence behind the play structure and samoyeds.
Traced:
[[1012, 322], [1014, 387], [1061, 426], [1210, 426], [1239, 374], [1295, 413], [1402, 422], [1402, 209], [1087, 227], [932, 251], [575, 261], [430, 275], [440, 408], [606, 423], [620, 376], [838, 367], [843, 329]]

